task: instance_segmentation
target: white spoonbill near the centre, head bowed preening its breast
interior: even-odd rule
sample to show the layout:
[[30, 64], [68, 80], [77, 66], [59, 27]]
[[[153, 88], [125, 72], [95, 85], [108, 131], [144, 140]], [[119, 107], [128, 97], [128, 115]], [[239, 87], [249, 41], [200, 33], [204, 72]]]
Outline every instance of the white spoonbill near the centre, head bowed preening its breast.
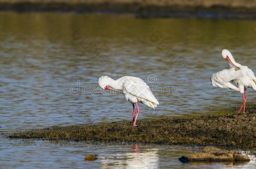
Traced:
[[[138, 113], [140, 112], [138, 102], [144, 103], [146, 106], [153, 109], [155, 109], [159, 104], [155, 96], [152, 94], [149, 86], [141, 78], [123, 76], [117, 80], [114, 80], [109, 76], [101, 76], [99, 78], [99, 86], [105, 90], [123, 93], [126, 100], [133, 104], [133, 126], [138, 126], [136, 125]], [[121, 90], [123, 92], [117, 90]], [[136, 118], [134, 104], [136, 104], [137, 107]]]

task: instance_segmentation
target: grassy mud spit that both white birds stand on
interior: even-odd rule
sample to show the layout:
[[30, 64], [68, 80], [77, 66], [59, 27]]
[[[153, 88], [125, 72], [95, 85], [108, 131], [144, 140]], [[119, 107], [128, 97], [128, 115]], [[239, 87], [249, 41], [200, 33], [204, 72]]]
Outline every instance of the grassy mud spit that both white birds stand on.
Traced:
[[[249, 112], [248, 112], [249, 111]], [[165, 118], [86, 126], [51, 127], [11, 134], [10, 138], [142, 144], [195, 144], [256, 149], [256, 110], [193, 118]]]

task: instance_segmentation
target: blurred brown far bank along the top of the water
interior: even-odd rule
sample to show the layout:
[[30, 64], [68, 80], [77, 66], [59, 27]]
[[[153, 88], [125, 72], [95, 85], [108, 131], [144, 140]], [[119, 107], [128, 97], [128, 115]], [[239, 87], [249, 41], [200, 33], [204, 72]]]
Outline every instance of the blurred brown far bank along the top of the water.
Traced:
[[0, 0], [0, 10], [136, 13], [141, 17], [256, 18], [256, 0]]

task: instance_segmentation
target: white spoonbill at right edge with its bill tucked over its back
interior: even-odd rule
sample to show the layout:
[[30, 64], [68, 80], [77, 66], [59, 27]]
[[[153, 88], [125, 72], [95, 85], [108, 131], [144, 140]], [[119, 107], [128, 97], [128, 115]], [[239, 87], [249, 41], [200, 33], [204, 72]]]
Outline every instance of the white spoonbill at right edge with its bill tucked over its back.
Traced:
[[[229, 62], [230, 69], [224, 69], [213, 74], [211, 77], [212, 86], [240, 91], [243, 95], [243, 104], [238, 113], [242, 108], [244, 113], [246, 108], [246, 88], [251, 87], [256, 90], [256, 77], [247, 66], [236, 63], [229, 50], [223, 49], [222, 57]], [[238, 85], [238, 87], [230, 83], [230, 81]]]

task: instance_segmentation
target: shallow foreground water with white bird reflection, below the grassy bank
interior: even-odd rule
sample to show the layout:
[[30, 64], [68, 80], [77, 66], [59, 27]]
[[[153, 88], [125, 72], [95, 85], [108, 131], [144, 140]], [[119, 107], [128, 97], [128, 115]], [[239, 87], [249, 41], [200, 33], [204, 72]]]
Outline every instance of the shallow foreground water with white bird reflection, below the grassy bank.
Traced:
[[[3, 168], [180, 168], [229, 169], [252, 168], [255, 160], [245, 164], [192, 163], [178, 161], [180, 154], [199, 151], [198, 147], [159, 145], [104, 145], [83, 142], [55, 143], [32, 140], [1, 140], [0, 164]], [[95, 161], [84, 157], [97, 155]], [[33, 158], [31, 158], [31, 156]]]

